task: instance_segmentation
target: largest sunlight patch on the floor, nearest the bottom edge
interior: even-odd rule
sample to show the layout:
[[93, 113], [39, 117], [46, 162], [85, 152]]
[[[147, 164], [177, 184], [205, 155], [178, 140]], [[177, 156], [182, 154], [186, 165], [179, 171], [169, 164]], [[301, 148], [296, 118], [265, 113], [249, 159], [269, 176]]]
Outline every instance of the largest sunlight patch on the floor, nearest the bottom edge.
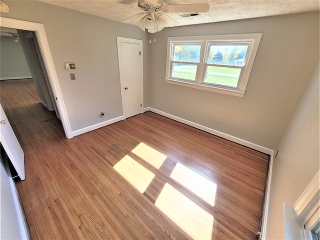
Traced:
[[211, 240], [213, 216], [169, 183], [154, 204], [193, 239]]

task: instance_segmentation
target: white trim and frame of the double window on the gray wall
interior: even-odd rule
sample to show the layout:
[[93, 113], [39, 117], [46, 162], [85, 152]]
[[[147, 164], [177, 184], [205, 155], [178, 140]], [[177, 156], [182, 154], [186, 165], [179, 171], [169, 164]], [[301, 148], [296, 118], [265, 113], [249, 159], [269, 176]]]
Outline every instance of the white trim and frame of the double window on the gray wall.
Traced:
[[[245, 88], [248, 83], [248, 79], [250, 76], [250, 72], [253, 66], [254, 58], [259, 46], [259, 42], [261, 39], [262, 33], [246, 33], [246, 34], [230, 34], [230, 35], [208, 35], [208, 36], [179, 36], [179, 37], [168, 37], [167, 41], [167, 54], [166, 54], [166, 71], [165, 71], [165, 82], [172, 83], [176, 85], [182, 85], [192, 88], [197, 88], [201, 90], [207, 90], [207, 91], [213, 91], [213, 92], [219, 92], [234, 96], [240, 96], [243, 97], [245, 93]], [[209, 84], [202, 82], [204, 72], [205, 72], [205, 59], [206, 54], [208, 51], [206, 48], [211, 43], [216, 42], [225, 42], [225, 41], [236, 41], [236, 42], [250, 42], [251, 46], [248, 47], [247, 50], [247, 59], [248, 61], [245, 63], [245, 66], [243, 68], [243, 71], [241, 71], [241, 75], [239, 77], [239, 82], [237, 87], [228, 87], [223, 85], [215, 85], [215, 84]], [[172, 78], [171, 71], [171, 55], [173, 48], [171, 47], [174, 43], [197, 43], [201, 44], [201, 51], [200, 51], [200, 61], [199, 61], [199, 67], [197, 69], [197, 75], [198, 78], [195, 81], [188, 81], [185, 79], [179, 79], [179, 78]], [[171, 49], [172, 48], [172, 49]], [[192, 62], [190, 62], [192, 64]]]

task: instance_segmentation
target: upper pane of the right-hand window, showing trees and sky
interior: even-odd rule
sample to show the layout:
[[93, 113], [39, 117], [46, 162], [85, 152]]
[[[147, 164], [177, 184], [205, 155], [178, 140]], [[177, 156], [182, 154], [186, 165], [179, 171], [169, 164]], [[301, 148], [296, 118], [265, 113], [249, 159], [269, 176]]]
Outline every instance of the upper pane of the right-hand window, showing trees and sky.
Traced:
[[210, 45], [209, 64], [244, 65], [247, 45]]

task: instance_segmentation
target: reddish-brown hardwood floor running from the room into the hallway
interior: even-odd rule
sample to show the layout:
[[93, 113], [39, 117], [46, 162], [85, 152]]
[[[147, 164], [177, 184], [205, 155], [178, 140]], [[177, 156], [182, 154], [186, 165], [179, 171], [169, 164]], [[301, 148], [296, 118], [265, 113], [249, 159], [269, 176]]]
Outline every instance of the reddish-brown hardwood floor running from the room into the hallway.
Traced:
[[[197, 234], [186, 234], [185, 226], [208, 232], [210, 239], [255, 239], [268, 155], [152, 112], [66, 139], [54, 112], [44, 109], [26, 79], [0, 81], [0, 102], [25, 153], [25, 180], [16, 186], [32, 239], [191, 239]], [[132, 152], [141, 142], [150, 147], [145, 155], [166, 156], [158, 168]], [[132, 168], [121, 175], [113, 168], [124, 157], [153, 173], [143, 193], [126, 180], [141, 182], [132, 171], [143, 171]], [[180, 172], [184, 183], [176, 180], [179, 174], [170, 176], [174, 169], [185, 169]], [[203, 177], [216, 185], [213, 205], [184, 185], [200, 190], [206, 181], [197, 185], [195, 179]], [[165, 184], [186, 199], [168, 199]], [[160, 210], [176, 215], [176, 208], [190, 200], [194, 207], [181, 208], [183, 219]], [[213, 224], [196, 222], [204, 219], [194, 215], [199, 207]]]

